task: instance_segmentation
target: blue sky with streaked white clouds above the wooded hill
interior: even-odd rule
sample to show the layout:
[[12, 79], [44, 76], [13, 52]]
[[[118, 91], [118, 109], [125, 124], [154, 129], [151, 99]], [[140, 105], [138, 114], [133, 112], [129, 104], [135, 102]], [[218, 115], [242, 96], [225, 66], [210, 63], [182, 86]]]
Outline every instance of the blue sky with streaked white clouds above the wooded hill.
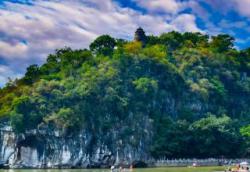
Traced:
[[250, 0], [0, 0], [0, 87], [65, 46], [88, 48], [109, 34], [220, 33], [250, 47]]

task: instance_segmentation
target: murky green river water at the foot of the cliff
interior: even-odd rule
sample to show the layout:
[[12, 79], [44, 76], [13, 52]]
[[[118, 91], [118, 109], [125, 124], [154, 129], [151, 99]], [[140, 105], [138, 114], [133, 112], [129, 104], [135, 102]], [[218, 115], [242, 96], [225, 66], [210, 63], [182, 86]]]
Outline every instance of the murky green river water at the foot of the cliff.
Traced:
[[[224, 167], [197, 167], [197, 168], [187, 168], [187, 167], [178, 167], [178, 168], [145, 168], [145, 169], [134, 169], [133, 172], [215, 172], [223, 171]], [[69, 170], [0, 170], [0, 172], [110, 172], [108, 169], [69, 169]], [[124, 171], [129, 172], [129, 170]]]

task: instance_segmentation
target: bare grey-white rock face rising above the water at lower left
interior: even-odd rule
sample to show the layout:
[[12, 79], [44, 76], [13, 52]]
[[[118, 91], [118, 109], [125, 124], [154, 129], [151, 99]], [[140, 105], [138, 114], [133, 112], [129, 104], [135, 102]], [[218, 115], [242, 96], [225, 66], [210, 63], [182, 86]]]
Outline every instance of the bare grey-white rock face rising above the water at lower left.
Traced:
[[132, 145], [115, 130], [98, 137], [87, 131], [65, 136], [49, 127], [17, 135], [5, 125], [0, 131], [0, 163], [9, 168], [98, 168], [150, 159], [149, 134]]

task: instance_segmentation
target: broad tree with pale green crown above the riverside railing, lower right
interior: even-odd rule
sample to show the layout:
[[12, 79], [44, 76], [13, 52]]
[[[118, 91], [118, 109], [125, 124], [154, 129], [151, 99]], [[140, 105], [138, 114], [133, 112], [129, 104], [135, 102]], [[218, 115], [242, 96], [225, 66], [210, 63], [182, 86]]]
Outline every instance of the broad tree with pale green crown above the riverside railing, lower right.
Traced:
[[[194, 133], [194, 151], [201, 157], [238, 157], [242, 150], [242, 140], [233, 121], [228, 116], [209, 115], [196, 121], [190, 127]], [[202, 145], [199, 143], [203, 143]]]

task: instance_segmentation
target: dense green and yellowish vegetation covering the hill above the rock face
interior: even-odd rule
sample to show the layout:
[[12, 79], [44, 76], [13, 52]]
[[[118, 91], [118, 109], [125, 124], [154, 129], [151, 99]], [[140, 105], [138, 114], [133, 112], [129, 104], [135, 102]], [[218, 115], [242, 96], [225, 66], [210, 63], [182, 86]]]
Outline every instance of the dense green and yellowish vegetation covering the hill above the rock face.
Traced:
[[2, 121], [16, 133], [46, 124], [98, 134], [127, 124], [126, 138], [147, 117], [156, 158], [249, 156], [250, 49], [234, 49], [223, 34], [140, 34], [103, 35], [89, 50], [59, 49], [31, 65], [0, 90]]

